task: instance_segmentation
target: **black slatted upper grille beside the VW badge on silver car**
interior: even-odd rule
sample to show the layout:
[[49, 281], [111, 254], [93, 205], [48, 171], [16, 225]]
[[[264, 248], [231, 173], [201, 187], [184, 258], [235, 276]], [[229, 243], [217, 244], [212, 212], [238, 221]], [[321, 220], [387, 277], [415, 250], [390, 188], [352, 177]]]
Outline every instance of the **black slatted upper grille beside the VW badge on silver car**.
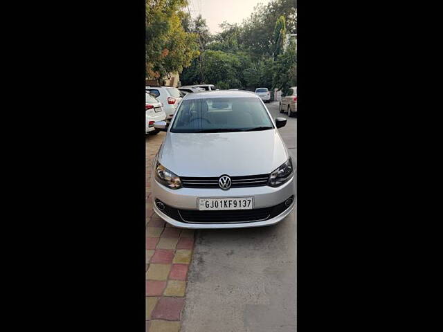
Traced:
[[[185, 188], [219, 188], [219, 177], [197, 178], [180, 176], [181, 183]], [[268, 183], [269, 174], [230, 176], [231, 188], [261, 187]]]

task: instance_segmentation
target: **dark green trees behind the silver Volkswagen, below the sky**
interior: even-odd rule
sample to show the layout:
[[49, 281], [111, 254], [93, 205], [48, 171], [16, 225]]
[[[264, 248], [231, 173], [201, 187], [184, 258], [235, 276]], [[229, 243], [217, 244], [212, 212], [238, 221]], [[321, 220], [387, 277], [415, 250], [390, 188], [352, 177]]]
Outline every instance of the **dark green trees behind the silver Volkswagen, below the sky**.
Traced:
[[218, 89], [251, 91], [296, 85], [296, 48], [291, 45], [289, 53], [283, 53], [286, 34], [296, 32], [296, 1], [259, 4], [243, 24], [224, 22], [214, 36], [201, 17], [183, 19], [182, 24], [199, 35], [201, 51], [183, 70], [183, 85], [215, 84]]

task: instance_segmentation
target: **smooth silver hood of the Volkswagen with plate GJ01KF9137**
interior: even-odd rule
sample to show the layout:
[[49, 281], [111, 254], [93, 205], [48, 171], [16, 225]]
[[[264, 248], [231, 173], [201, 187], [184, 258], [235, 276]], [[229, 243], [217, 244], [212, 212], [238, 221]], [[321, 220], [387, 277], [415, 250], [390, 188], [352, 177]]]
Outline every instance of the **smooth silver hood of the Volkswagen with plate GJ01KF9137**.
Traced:
[[168, 133], [159, 151], [159, 162], [178, 176], [268, 174], [288, 158], [277, 129]]

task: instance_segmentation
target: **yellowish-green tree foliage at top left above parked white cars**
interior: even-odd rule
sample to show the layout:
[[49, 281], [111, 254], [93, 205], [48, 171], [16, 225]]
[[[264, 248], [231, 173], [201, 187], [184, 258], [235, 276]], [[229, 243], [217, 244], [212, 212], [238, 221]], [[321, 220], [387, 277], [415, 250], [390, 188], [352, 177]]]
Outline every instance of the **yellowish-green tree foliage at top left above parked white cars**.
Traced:
[[146, 1], [146, 72], [159, 78], [183, 71], [199, 55], [197, 35], [183, 29], [186, 0]]

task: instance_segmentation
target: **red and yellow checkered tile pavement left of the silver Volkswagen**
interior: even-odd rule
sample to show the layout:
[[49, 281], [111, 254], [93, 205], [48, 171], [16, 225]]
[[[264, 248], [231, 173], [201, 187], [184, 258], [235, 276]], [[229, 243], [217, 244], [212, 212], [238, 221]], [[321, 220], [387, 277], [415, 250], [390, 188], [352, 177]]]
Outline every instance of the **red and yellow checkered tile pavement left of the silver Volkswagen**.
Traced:
[[151, 165], [165, 133], [146, 138], [146, 332], [179, 332], [194, 231], [165, 223], [152, 210]]

